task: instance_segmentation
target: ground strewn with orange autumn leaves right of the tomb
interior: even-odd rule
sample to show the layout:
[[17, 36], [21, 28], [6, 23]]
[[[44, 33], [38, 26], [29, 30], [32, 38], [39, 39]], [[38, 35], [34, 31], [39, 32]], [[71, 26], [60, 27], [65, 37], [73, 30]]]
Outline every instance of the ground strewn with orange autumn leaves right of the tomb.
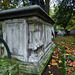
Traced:
[[43, 75], [75, 75], [75, 36], [57, 37], [56, 48]]

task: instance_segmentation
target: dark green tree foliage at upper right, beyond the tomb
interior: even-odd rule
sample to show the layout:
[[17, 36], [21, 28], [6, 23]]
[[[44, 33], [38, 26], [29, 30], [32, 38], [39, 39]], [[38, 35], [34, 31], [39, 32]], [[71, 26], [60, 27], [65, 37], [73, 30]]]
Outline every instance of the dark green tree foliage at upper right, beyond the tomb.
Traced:
[[66, 28], [68, 25], [75, 25], [74, 15], [74, 0], [62, 0], [62, 2], [55, 7], [55, 15], [53, 19], [56, 25]]

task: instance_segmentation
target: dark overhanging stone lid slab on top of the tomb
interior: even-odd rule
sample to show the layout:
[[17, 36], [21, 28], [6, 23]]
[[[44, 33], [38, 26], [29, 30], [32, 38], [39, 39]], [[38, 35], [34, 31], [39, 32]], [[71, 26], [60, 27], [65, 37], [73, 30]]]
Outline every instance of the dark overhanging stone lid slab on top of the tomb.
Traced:
[[14, 8], [0, 11], [0, 21], [32, 16], [37, 16], [48, 23], [54, 24], [54, 21], [39, 5], [25, 6], [22, 8]]

